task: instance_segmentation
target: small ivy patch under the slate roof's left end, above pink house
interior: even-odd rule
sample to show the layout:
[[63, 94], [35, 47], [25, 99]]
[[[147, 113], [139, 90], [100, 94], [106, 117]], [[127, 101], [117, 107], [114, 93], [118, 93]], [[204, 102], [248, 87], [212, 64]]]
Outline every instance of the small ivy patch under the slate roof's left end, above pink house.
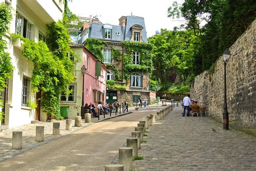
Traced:
[[89, 49], [98, 59], [104, 61], [102, 49], [106, 43], [102, 40], [95, 38], [87, 38], [85, 40], [85, 47]]

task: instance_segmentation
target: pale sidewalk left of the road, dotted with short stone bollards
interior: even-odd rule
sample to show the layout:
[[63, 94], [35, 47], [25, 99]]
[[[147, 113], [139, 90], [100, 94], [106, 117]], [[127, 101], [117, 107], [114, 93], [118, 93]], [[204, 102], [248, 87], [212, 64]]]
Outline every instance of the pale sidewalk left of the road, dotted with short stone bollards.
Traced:
[[[157, 104], [152, 104], [150, 106], [156, 106]], [[75, 119], [72, 119], [72, 131], [66, 131], [66, 120], [56, 120], [55, 122], [60, 123], [60, 136], [53, 136], [52, 135], [52, 122], [39, 122], [36, 124], [28, 124], [19, 127], [15, 127], [12, 129], [3, 130], [0, 132], [0, 162], [11, 158], [17, 154], [23, 153], [28, 151], [29, 149], [35, 148], [37, 146], [41, 146], [43, 144], [48, 143], [49, 141], [56, 140], [59, 137], [65, 136], [66, 134], [70, 134], [74, 131], [83, 129], [86, 126], [90, 126], [94, 123], [101, 122], [106, 119], [122, 116], [131, 113], [134, 111], [135, 107], [131, 107], [128, 109], [128, 112], [123, 113], [121, 110], [121, 114], [119, 111], [116, 113], [112, 113], [110, 115], [105, 115], [105, 119], [103, 115], [100, 115], [100, 120], [98, 118], [91, 118], [91, 123], [84, 123], [84, 119], [82, 119], [82, 127], [75, 127]], [[35, 141], [36, 137], [36, 126], [44, 126], [44, 141], [42, 143], [38, 143]], [[22, 150], [11, 149], [12, 146], [12, 131], [22, 131]]]

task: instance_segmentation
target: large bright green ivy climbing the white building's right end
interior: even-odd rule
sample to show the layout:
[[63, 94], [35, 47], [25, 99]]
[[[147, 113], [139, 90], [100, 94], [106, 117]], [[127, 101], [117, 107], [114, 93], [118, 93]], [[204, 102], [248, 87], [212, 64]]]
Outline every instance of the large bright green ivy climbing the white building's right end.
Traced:
[[62, 92], [70, 93], [66, 87], [73, 82], [75, 61], [66, 55], [73, 52], [69, 47], [68, 31], [62, 22], [51, 24], [49, 30], [53, 53], [43, 41], [36, 43], [17, 34], [12, 34], [12, 38], [23, 40], [22, 54], [34, 63], [31, 84], [33, 91], [43, 92], [41, 105], [48, 119], [51, 115], [62, 119], [59, 96]]

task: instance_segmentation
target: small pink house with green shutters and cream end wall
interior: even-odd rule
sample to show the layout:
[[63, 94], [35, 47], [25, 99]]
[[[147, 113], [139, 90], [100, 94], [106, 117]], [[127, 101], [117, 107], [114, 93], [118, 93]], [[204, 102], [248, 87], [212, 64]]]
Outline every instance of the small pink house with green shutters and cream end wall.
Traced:
[[[70, 84], [69, 89], [72, 93], [68, 97], [60, 97], [62, 105], [69, 106], [69, 118], [81, 116], [82, 98], [84, 105], [106, 102], [106, 66], [95, 55], [93, 55], [84, 45], [70, 44], [75, 54], [80, 56], [80, 61], [76, 63], [75, 80]], [[84, 76], [82, 67], [86, 68]], [[83, 79], [84, 77], [84, 79]], [[84, 80], [84, 87], [83, 87]]]

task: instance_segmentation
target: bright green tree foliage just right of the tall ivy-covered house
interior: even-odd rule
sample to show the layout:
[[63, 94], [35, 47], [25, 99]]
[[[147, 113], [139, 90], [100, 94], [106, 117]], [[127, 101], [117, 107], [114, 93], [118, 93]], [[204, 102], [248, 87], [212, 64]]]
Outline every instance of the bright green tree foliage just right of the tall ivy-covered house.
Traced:
[[187, 76], [193, 66], [193, 54], [199, 39], [192, 30], [168, 31], [149, 38], [153, 44], [153, 79], [160, 80], [164, 88], [173, 75]]

